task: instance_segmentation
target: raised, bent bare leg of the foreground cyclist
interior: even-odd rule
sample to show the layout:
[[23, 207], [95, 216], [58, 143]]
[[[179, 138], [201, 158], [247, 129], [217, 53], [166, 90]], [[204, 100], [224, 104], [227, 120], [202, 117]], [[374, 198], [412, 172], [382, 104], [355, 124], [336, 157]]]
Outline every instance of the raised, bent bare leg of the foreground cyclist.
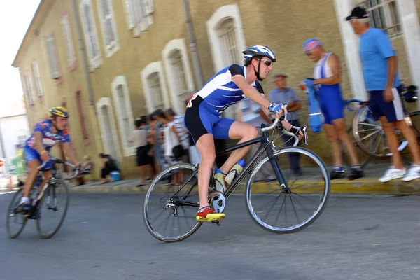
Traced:
[[[241, 139], [238, 144], [255, 139], [258, 137], [258, 130], [248, 123], [242, 123], [239, 120], [232, 123], [229, 129], [230, 139]], [[221, 171], [223, 173], [230, 172], [230, 169], [248, 153], [251, 145], [233, 151], [228, 160], [222, 165]]]

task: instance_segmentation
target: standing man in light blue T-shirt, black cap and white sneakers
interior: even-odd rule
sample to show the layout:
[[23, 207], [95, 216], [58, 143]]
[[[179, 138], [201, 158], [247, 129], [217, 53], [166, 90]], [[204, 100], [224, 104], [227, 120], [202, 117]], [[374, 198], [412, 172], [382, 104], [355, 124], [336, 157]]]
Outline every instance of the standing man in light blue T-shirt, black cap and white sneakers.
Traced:
[[[370, 94], [370, 108], [375, 118], [381, 121], [386, 134], [393, 165], [379, 181], [387, 182], [402, 178], [412, 181], [420, 178], [420, 154], [416, 135], [405, 123], [405, 109], [400, 98], [400, 78], [397, 73], [397, 57], [387, 34], [370, 27], [370, 14], [365, 8], [356, 7], [346, 18], [355, 34], [360, 36], [360, 60], [366, 90]], [[413, 165], [406, 172], [398, 151], [398, 139], [394, 131], [397, 127], [407, 139], [413, 154]]]

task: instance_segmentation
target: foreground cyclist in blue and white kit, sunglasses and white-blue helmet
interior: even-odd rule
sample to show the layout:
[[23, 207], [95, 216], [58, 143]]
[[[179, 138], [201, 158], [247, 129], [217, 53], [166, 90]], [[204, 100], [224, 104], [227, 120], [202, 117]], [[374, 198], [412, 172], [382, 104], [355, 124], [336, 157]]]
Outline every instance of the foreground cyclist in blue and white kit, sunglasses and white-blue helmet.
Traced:
[[[253, 125], [221, 118], [223, 110], [249, 98], [258, 103], [266, 114], [272, 112], [279, 118], [283, 116], [283, 105], [265, 99], [259, 83], [267, 78], [276, 62], [274, 52], [262, 45], [255, 45], [242, 52], [245, 57], [244, 66], [232, 64], [216, 73], [202, 90], [194, 94], [186, 109], [184, 123], [202, 159], [198, 169], [200, 210], [196, 216], [200, 222], [220, 221], [225, 218], [225, 214], [216, 213], [209, 207], [207, 199], [211, 169], [216, 158], [214, 139], [240, 139], [239, 143], [242, 143], [258, 137], [258, 130]], [[250, 148], [251, 146], [247, 146], [234, 151], [221, 169], [216, 169], [215, 176], [223, 176], [223, 179]]]

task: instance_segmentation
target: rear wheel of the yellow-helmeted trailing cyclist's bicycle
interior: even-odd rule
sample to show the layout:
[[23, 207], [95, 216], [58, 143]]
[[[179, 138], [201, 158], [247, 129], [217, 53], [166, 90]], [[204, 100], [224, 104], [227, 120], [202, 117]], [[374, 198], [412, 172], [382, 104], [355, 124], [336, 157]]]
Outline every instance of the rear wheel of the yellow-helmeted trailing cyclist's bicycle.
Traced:
[[9, 238], [16, 238], [20, 235], [22, 230], [25, 228], [25, 225], [28, 221], [22, 213], [18, 212], [16, 209], [20, 204], [20, 199], [23, 195], [23, 189], [21, 188], [18, 192], [13, 195], [12, 201], [9, 204], [6, 213], [6, 232]]

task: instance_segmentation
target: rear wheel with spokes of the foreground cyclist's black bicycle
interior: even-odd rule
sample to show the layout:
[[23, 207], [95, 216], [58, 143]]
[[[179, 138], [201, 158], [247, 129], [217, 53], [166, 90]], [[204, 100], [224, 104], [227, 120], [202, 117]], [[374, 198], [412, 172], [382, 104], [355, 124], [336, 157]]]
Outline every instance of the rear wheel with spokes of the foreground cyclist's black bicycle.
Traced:
[[[197, 168], [188, 163], [172, 165], [153, 181], [144, 200], [143, 218], [153, 237], [165, 241], [181, 241], [193, 235], [202, 223], [195, 216], [197, 205], [186, 201], [200, 201], [198, 197]], [[176, 200], [183, 200], [178, 203]]]

